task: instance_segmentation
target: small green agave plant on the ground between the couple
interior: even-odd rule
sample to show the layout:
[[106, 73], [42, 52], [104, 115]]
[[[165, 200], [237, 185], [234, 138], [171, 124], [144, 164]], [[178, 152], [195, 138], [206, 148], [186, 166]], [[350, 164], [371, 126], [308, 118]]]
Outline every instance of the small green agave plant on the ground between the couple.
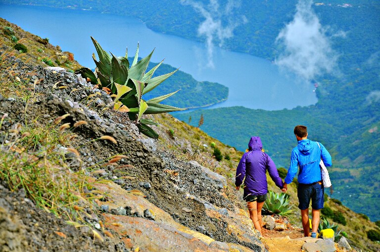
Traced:
[[292, 205], [289, 206], [289, 196], [284, 193], [278, 194], [273, 191], [268, 192], [268, 198], [264, 202], [263, 207], [279, 215], [287, 215], [293, 211], [291, 209]]

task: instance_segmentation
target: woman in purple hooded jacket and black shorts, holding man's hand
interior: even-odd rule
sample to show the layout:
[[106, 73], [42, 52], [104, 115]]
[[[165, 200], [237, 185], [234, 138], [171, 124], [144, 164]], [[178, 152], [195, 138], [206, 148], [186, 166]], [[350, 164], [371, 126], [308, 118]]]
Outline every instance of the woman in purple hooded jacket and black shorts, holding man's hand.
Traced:
[[263, 151], [260, 137], [251, 137], [248, 143], [248, 151], [243, 154], [236, 170], [236, 190], [244, 180], [243, 199], [247, 202], [249, 215], [255, 228], [261, 233], [261, 208], [267, 199], [268, 182], [265, 175], [268, 170], [272, 180], [280, 189], [284, 182], [280, 178], [275, 163], [269, 155]]

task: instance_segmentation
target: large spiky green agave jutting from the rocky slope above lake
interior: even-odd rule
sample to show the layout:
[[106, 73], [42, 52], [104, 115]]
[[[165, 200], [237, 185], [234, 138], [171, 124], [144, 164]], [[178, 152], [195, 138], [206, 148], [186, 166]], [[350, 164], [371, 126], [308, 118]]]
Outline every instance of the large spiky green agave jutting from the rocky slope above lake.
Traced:
[[108, 54], [108, 52], [100, 47], [93, 37], [91, 37], [91, 39], [99, 57], [99, 61], [97, 61], [95, 53], [93, 53], [93, 59], [96, 65], [95, 72], [84, 67], [77, 70], [76, 73], [81, 74], [84, 78], [90, 79], [91, 83], [98, 85], [99, 88], [107, 88], [111, 90], [113, 93], [112, 96], [115, 97], [114, 109], [126, 111], [131, 120], [136, 120], [138, 122], [137, 126], [142, 134], [157, 139], [158, 134], [148, 126], [157, 125], [157, 123], [152, 120], [142, 119], [142, 114], [158, 114], [184, 110], [184, 108], [160, 103], [177, 93], [179, 90], [148, 101], [144, 101], [142, 96], [149, 91], [152, 91], [159, 84], [173, 75], [178, 69], [171, 73], [152, 78], [155, 70], [163, 61], [162, 60], [155, 67], [146, 72], [154, 50], [148, 56], [138, 61], [138, 44], [135, 58], [132, 64], [130, 64], [128, 60], [128, 51], [126, 51], [124, 57], [115, 56], [112, 53]]

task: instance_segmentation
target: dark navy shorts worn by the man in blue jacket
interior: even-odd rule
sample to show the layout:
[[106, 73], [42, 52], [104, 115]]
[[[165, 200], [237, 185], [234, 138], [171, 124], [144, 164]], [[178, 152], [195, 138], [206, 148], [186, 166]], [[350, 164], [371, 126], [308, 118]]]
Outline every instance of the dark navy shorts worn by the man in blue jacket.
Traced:
[[315, 184], [299, 184], [297, 191], [299, 205], [301, 210], [309, 208], [310, 200], [311, 207], [315, 210], [323, 208], [325, 201], [325, 188], [322, 182]]

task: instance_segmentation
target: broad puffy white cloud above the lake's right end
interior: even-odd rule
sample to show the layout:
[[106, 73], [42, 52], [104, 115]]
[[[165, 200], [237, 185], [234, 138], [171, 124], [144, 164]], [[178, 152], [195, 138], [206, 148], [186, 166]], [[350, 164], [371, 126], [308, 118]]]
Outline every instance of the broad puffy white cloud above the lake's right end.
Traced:
[[332, 50], [330, 39], [345, 36], [344, 32], [327, 36], [327, 28], [322, 27], [312, 4], [312, 0], [299, 0], [293, 20], [276, 39], [284, 49], [276, 63], [309, 81], [334, 71], [338, 54]]

